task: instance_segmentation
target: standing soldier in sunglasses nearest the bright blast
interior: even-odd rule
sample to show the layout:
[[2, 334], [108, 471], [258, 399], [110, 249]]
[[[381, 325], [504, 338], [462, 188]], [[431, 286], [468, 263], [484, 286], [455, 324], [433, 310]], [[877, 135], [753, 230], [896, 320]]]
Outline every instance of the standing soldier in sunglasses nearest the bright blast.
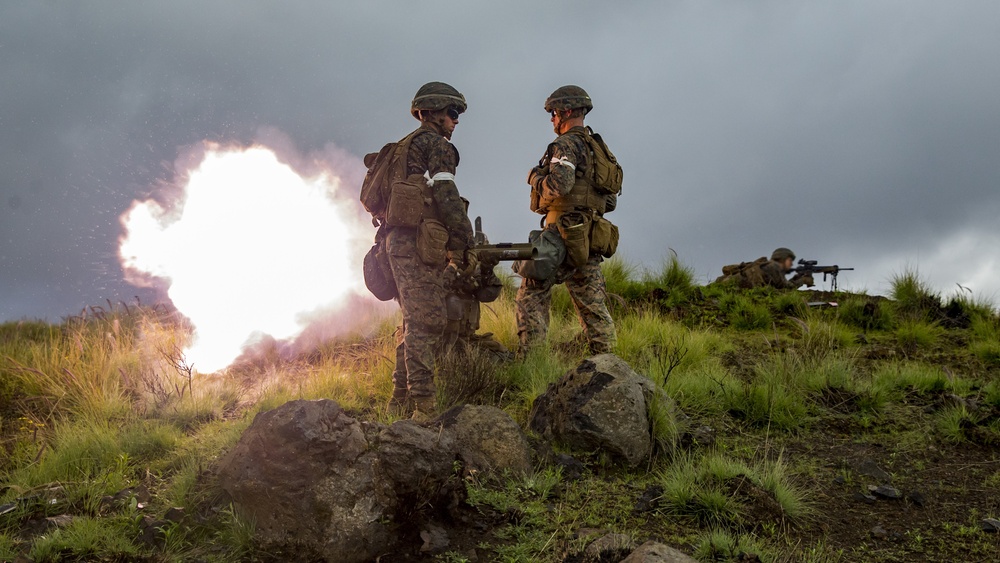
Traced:
[[427, 204], [419, 227], [390, 227], [386, 235], [403, 312], [391, 406], [413, 412], [414, 418], [426, 418], [435, 408], [435, 354], [447, 324], [446, 270], [475, 266], [468, 252], [473, 245], [472, 224], [455, 185], [458, 150], [449, 142], [466, 107], [465, 97], [443, 82], [429, 82], [417, 90], [410, 113], [420, 127], [410, 136], [406, 173], [418, 182], [420, 176], [429, 178], [423, 192]]

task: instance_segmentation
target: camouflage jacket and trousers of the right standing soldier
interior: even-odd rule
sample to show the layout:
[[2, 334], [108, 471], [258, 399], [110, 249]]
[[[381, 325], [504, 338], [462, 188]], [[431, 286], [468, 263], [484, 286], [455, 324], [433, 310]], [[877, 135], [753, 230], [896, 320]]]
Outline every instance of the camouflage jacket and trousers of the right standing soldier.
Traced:
[[[578, 177], [590, 169], [591, 155], [583, 138], [583, 127], [573, 127], [560, 135], [550, 145], [548, 166], [540, 173], [544, 179], [538, 183], [537, 212], [547, 214], [546, 229], [557, 229], [558, 213], [551, 212], [573, 190]], [[533, 196], [536, 197], [536, 196]], [[601, 196], [604, 202], [600, 212], [614, 209], [615, 196]], [[595, 209], [581, 210], [584, 213]], [[591, 253], [587, 263], [573, 268], [564, 262], [554, 280], [539, 282], [529, 278], [521, 280], [518, 289], [517, 334], [522, 351], [545, 341], [549, 327], [549, 308], [552, 302], [552, 285], [565, 283], [569, 290], [577, 317], [583, 327], [590, 351], [593, 354], [610, 352], [616, 342], [615, 325], [606, 304], [607, 289], [601, 273], [601, 256]]]

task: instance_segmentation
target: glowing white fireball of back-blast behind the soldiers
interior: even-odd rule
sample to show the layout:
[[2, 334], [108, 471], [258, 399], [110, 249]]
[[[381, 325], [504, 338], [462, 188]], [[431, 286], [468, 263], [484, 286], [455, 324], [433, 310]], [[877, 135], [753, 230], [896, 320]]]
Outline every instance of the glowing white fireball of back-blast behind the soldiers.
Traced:
[[350, 316], [367, 293], [358, 248], [371, 229], [339, 197], [340, 176], [303, 177], [264, 146], [211, 144], [181, 173], [172, 201], [122, 215], [119, 255], [130, 283], [166, 285], [194, 326], [189, 365], [209, 373], [255, 339], [293, 339], [317, 311]]

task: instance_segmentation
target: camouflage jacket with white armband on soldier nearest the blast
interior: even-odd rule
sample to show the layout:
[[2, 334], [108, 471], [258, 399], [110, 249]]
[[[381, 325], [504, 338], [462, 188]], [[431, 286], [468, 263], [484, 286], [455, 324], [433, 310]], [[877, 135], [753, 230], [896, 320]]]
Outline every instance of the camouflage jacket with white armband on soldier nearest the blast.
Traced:
[[[458, 168], [458, 149], [429, 124], [422, 124], [419, 130], [422, 131], [414, 135], [406, 155], [407, 175], [422, 175], [425, 172], [431, 178], [440, 172], [454, 175]], [[469, 221], [455, 181], [437, 180], [431, 188], [431, 193], [438, 216], [450, 235], [448, 249], [471, 248], [472, 223]]]

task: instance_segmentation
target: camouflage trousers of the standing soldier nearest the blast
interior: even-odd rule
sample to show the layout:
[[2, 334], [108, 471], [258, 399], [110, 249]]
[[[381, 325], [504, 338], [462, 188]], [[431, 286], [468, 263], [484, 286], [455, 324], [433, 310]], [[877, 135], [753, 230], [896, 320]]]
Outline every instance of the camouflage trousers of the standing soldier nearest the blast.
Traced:
[[[413, 232], [411, 232], [413, 231]], [[445, 317], [443, 269], [417, 256], [416, 229], [397, 229], [386, 239], [389, 266], [403, 311], [402, 338], [392, 372], [393, 396], [434, 396], [434, 359], [441, 347]]]

